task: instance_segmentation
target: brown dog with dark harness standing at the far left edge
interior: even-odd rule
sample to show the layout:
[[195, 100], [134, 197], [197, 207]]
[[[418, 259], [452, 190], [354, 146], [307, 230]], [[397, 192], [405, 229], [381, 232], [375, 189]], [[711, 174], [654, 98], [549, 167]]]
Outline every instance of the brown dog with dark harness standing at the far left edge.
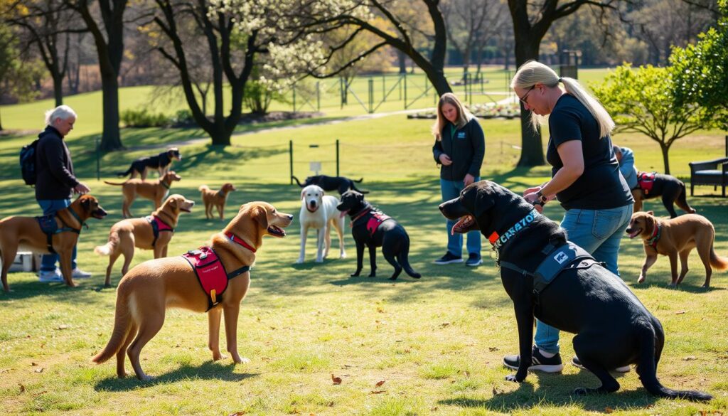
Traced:
[[[71, 254], [76, 242], [79, 240], [84, 221], [91, 217], [103, 219], [103, 211], [98, 200], [91, 195], [81, 195], [68, 208], [55, 213], [58, 230], [51, 235], [51, 248], [58, 253], [60, 272], [66, 285], [75, 287], [71, 277]], [[50, 254], [48, 235], [33, 216], [9, 216], [0, 220], [0, 258], [2, 259], [2, 288], [9, 291], [7, 284], [7, 270], [10, 268], [18, 248], [24, 251], [33, 251], [37, 254]]]

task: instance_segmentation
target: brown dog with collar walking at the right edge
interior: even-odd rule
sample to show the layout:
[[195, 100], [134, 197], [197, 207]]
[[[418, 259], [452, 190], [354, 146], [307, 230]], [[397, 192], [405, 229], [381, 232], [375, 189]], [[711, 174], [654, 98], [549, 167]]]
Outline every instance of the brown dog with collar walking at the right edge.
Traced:
[[[640, 236], [644, 240], [644, 253], [647, 258], [642, 264], [637, 283], [644, 282], [647, 270], [657, 261], [657, 254], [662, 254], [670, 257], [670, 285], [679, 285], [688, 271], [687, 257], [693, 248], [697, 248], [697, 254], [705, 266], [704, 288], [711, 286], [711, 266], [718, 270], [728, 269], [728, 259], [718, 256], [713, 250], [716, 230], [704, 216], [689, 213], [673, 219], [661, 219], [654, 216], [652, 211], [636, 212], [632, 214], [626, 232], [630, 238]], [[678, 256], [682, 267], [679, 276]]]

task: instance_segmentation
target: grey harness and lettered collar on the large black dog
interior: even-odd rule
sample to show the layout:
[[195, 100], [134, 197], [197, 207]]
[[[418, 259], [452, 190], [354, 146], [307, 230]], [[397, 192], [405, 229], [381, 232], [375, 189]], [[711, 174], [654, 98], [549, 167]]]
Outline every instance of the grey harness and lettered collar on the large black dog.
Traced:
[[[541, 214], [534, 209], [526, 214], [523, 219], [516, 222], [513, 227], [510, 227], [510, 229], [504, 232], [503, 235], [498, 235], [497, 232], [493, 232], [488, 240], [493, 245], [494, 250], [502, 248], [508, 240], [513, 238], [513, 236], [521, 230], [528, 227], [529, 224], [531, 224], [540, 215]], [[566, 241], [566, 243], [561, 246], [548, 243], [541, 250], [541, 253], [545, 254], [546, 257], [538, 265], [538, 267], [536, 267], [534, 272], [523, 270], [521, 267], [518, 267], [511, 262], [503, 262], [501, 260], [497, 261], [499, 267], [505, 267], [508, 270], [520, 273], [523, 277], [529, 276], [532, 278], [536, 299], [538, 299], [539, 294], [541, 294], [541, 292], [544, 291], [544, 289], [546, 289], [546, 287], [553, 282], [553, 280], [561, 274], [563, 270], [588, 269], [594, 264], [601, 264], [604, 266], [604, 263], [597, 262], [596, 259], [594, 259], [594, 257], [585, 249], [571, 243], [571, 241]]]

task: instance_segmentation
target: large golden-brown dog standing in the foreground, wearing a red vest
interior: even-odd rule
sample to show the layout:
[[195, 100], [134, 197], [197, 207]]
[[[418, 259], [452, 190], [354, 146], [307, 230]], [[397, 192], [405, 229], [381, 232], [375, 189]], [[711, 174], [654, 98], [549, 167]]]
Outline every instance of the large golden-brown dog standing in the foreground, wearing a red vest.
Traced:
[[[111, 340], [92, 361], [103, 363], [116, 356], [116, 374], [124, 377], [124, 353], [127, 353], [136, 376], [140, 380], [149, 380], [151, 377], [141, 369], [139, 353], [162, 328], [167, 307], [182, 307], [201, 313], [207, 311], [210, 328], [208, 347], [215, 361], [223, 358], [219, 335], [220, 316], [224, 312], [227, 350], [236, 363], [246, 361], [237, 352], [237, 316], [240, 302], [250, 285], [250, 272], [241, 270], [255, 262], [255, 251], [261, 247], [264, 235], [284, 237], [283, 228], [288, 227], [291, 221], [292, 215], [276, 211], [269, 203], [248, 203], [240, 207], [237, 216], [222, 232], [214, 234], [205, 243], [217, 254], [224, 272], [234, 270], [228, 273], [224, 293], [218, 294], [222, 299], [212, 307], [210, 299], [214, 298], [214, 294], [208, 295], [201, 289], [197, 275], [202, 272], [199, 268], [193, 270], [191, 262], [185, 257], [154, 259], [134, 267], [116, 289], [116, 317]], [[236, 272], [241, 274], [232, 278], [231, 275]]]

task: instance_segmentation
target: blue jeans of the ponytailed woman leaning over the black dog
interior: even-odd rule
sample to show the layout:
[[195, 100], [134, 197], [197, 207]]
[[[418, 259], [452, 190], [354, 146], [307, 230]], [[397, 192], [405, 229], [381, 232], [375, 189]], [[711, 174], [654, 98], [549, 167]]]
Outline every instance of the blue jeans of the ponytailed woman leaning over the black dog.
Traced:
[[[561, 220], [569, 241], [588, 251], [606, 268], [620, 275], [617, 256], [620, 240], [632, 216], [633, 204], [602, 210], [571, 209]], [[558, 353], [558, 329], [536, 320], [536, 346], [547, 353]]]

